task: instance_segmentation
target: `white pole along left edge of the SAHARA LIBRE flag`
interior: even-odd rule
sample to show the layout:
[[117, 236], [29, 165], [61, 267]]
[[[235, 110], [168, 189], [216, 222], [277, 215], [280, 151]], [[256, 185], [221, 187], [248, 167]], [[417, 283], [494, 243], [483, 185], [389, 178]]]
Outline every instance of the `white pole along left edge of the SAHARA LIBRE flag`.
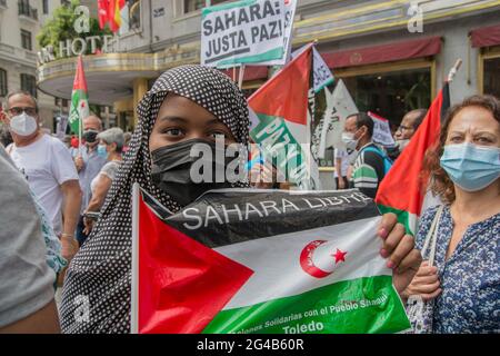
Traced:
[[138, 182], [132, 185], [132, 281], [130, 333], [139, 334], [139, 194]]

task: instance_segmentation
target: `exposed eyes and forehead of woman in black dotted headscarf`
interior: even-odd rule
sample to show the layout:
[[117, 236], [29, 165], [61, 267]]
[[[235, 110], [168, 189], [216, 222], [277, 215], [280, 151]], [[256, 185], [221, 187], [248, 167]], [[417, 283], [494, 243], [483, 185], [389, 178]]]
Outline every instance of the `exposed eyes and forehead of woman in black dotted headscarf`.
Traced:
[[214, 141], [218, 136], [224, 137], [224, 145], [236, 142], [229, 128], [211, 112], [188, 98], [169, 93], [158, 111], [149, 151], [196, 138]]

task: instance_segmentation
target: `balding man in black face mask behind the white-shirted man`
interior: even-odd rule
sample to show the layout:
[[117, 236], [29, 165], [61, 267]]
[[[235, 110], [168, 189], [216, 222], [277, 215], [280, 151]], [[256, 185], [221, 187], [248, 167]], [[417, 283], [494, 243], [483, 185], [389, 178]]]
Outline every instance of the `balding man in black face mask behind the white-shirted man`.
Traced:
[[74, 159], [74, 166], [80, 177], [80, 187], [83, 192], [80, 207], [80, 219], [77, 226], [77, 240], [80, 246], [87, 239], [87, 235], [83, 233], [83, 211], [89, 205], [91, 198], [90, 182], [99, 174], [102, 166], [106, 165], [106, 157], [101, 157], [98, 154], [99, 140], [97, 136], [102, 131], [102, 121], [94, 115], [91, 115], [83, 119], [83, 135], [82, 138], [86, 142], [84, 148], [81, 150], [73, 149], [72, 155]]

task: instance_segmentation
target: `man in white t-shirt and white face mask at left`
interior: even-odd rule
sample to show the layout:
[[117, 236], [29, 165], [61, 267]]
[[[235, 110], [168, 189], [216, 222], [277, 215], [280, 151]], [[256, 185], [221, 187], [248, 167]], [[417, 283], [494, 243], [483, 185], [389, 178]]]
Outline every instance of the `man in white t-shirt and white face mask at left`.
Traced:
[[39, 198], [56, 234], [61, 238], [62, 257], [68, 261], [77, 253], [74, 230], [81, 204], [78, 174], [64, 145], [39, 128], [37, 100], [28, 92], [7, 97], [1, 119], [12, 134], [7, 151]]

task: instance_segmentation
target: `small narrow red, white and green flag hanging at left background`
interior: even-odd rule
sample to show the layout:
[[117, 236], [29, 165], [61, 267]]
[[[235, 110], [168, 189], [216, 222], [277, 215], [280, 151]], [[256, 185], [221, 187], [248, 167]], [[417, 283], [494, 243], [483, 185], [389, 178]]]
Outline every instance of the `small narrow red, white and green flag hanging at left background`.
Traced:
[[81, 122], [90, 113], [87, 93], [87, 80], [83, 72], [83, 60], [78, 57], [77, 72], [74, 73], [73, 91], [71, 92], [71, 108], [68, 122], [73, 134], [80, 135]]

